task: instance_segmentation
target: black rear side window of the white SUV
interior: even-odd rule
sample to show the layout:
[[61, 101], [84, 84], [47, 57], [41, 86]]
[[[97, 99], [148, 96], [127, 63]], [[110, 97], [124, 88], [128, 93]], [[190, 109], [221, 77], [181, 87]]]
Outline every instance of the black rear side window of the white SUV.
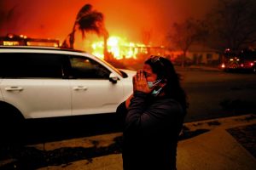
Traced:
[[0, 77], [62, 78], [61, 56], [55, 54], [1, 54]]

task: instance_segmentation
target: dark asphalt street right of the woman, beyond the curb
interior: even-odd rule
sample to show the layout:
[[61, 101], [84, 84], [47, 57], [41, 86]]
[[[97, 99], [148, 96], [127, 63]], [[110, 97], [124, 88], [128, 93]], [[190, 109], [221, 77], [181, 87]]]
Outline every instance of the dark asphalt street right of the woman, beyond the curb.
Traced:
[[256, 112], [256, 75], [223, 71], [178, 71], [189, 99], [185, 122]]

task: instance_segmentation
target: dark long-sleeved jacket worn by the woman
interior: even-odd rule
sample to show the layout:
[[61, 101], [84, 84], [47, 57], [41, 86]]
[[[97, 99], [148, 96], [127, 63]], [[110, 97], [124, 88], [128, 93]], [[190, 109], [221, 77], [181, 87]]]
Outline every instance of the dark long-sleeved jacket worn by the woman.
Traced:
[[117, 113], [124, 116], [124, 170], [176, 169], [177, 140], [185, 115], [177, 101], [135, 92], [129, 108], [123, 102]]

